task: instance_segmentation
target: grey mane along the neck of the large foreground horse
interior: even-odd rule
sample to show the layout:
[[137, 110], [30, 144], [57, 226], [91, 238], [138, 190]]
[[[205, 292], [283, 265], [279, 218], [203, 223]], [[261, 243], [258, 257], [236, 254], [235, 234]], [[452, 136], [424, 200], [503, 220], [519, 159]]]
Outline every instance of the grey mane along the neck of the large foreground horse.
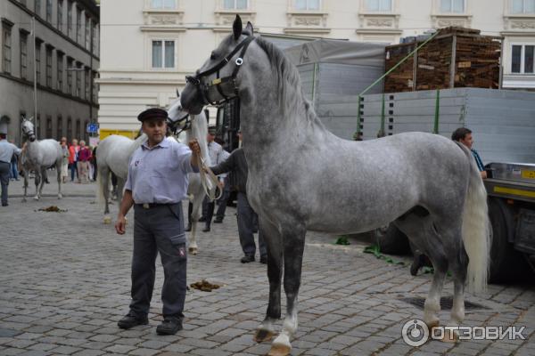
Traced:
[[272, 73], [276, 73], [279, 107], [283, 109], [284, 117], [294, 117], [303, 109], [305, 118], [310, 124], [324, 127], [319, 117], [317, 117], [310, 101], [305, 98], [300, 84], [299, 70], [288, 60], [275, 44], [258, 36], [256, 42], [260, 48], [268, 55]]

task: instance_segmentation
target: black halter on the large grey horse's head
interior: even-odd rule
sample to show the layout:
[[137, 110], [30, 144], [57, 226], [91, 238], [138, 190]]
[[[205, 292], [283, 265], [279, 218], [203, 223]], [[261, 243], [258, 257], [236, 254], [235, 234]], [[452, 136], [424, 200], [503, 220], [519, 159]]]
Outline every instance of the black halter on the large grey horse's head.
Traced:
[[[216, 64], [214, 67], [207, 69], [201, 73], [197, 73], [195, 77], [192, 77], [192, 76], [185, 77], [186, 83], [191, 83], [192, 85], [195, 85], [198, 87], [202, 95], [202, 101], [205, 105], [206, 104], [219, 105], [226, 101], [230, 101], [238, 96], [238, 86], [236, 85], [236, 76], [238, 75], [238, 71], [240, 70], [240, 68], [242, 68], [243, 55], [245, 54], [245, 51], [247, 51], [247, 47], [249, 47], [249, 44], [251, 44], [251, 42], [254, 41], [254, 39], [255, 39], [254, 36], [249, 35], [240, 44], [236, 45], [235, 49], [231, 53], [228, 53], [228, 55], [226, 55], [226, 57], [222, 61], [219, 61], [218, 64]], [[235, 60], [236, 66], [235, 66], [235, 69], [232, 71], [232, 75], [230, 75], [229, 77], [219, 77], [219, 70], [225, 67], [230, 62], [232, 57], [234, 57], [235, 54], [238, 53], [238, 51], [240, 51], [240, 49], [242, 50], [242, 52], [240, 53], [240, 56], [236, 58]], [[213, 73], [217, 73], [217, 77], [214, 80], [212, 80], [211, 83], [209, 84], [202, 84], [201, 78], [208, 77], [210, 76], [210, 74], [213, 74]], [[231, 94], [231, 96], [226, 95], [223, 92], [223, 88], [222, 88], [222, 85], [227, 85], [229, 83], [234, 86], [232, 87], [233, 94]], [[220, 101], [210, 101], [209, 91], [212, 86], [214, 86], [218, 90], [218, 93], [221, 94], [221, 96], [224, 99]]]

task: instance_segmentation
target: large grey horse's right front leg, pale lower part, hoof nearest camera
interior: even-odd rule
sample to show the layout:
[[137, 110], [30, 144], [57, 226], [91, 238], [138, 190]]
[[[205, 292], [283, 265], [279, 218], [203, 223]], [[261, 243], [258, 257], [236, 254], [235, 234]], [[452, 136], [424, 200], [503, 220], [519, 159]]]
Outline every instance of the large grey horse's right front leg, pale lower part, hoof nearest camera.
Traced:
[[293, 222], [283, 226], [284, 293], [286, 293], [286, 317], [283, 329], [271, 344], [270, 356], [284, 356], [292, 352], [292, 336], [297, 331], [297, 296], [299, 294], [301, 265], [305, 247], [304, 225]]

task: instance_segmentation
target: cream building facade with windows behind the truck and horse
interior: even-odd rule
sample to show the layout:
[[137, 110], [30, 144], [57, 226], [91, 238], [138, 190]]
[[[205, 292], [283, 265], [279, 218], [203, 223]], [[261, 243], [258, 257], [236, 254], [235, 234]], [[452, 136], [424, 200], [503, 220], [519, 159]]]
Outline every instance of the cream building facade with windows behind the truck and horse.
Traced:
[[[535, 42], [535, 13], [512, 14], [512, 2], [517, 0], [465, 0], [458, 13], [441, 11], [444, 0], [391, 0], [391, 9], [379, 12], [366, 8], [366, 0], [320, 0], [319, 9], [309, 11], [296, 10], [296, 0], [249, 0], [243, 10], [225, 10], [224, 0], [170, 0], [174, 7], [161, 10], [152, 8], [153, 1], [158, 2], [101, 2], [102, 128], [136, 129], [141, 110], [169, 105], [177, 88], [185, 85], [185, 75], [198, 69], [230, 33], [236, 13], [244, 23], [251, 20], [263, 36], [281, 43], [283, 36], [292, 36], [290, 42], [327, 37], [395, 44], [401, 37], [434, 28], [478, 28], [483, 35], [505, 36], [504, 86], [535, 88], [532, 73], [511, 72], [512, 45]], [[172, 68], [152, 68], [152, 40], [175, 42]]]

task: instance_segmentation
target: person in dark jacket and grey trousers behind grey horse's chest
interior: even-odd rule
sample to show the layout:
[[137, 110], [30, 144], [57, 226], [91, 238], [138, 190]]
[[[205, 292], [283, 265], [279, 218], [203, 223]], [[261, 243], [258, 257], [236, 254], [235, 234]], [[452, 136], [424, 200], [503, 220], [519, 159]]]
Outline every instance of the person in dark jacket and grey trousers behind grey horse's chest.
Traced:
[[[218, 166], [211, 166], [210, 169], [214, 174], [231, 173], [233, 184], [238, 192], [238, 235], [242, 245], [243, 257], [242, 263], [250, 263], [255, 260], [256, 245], [254, 243], [254, 220], [257, 214], [249, 205], [247, 199], [247, 160], [243, 153], [243, 148], [232, 151], [226, 161]], [[268, 262], [268, 251], [262, 237], [262, 231], [259, 232], [259, 254], [260, 263]]]

